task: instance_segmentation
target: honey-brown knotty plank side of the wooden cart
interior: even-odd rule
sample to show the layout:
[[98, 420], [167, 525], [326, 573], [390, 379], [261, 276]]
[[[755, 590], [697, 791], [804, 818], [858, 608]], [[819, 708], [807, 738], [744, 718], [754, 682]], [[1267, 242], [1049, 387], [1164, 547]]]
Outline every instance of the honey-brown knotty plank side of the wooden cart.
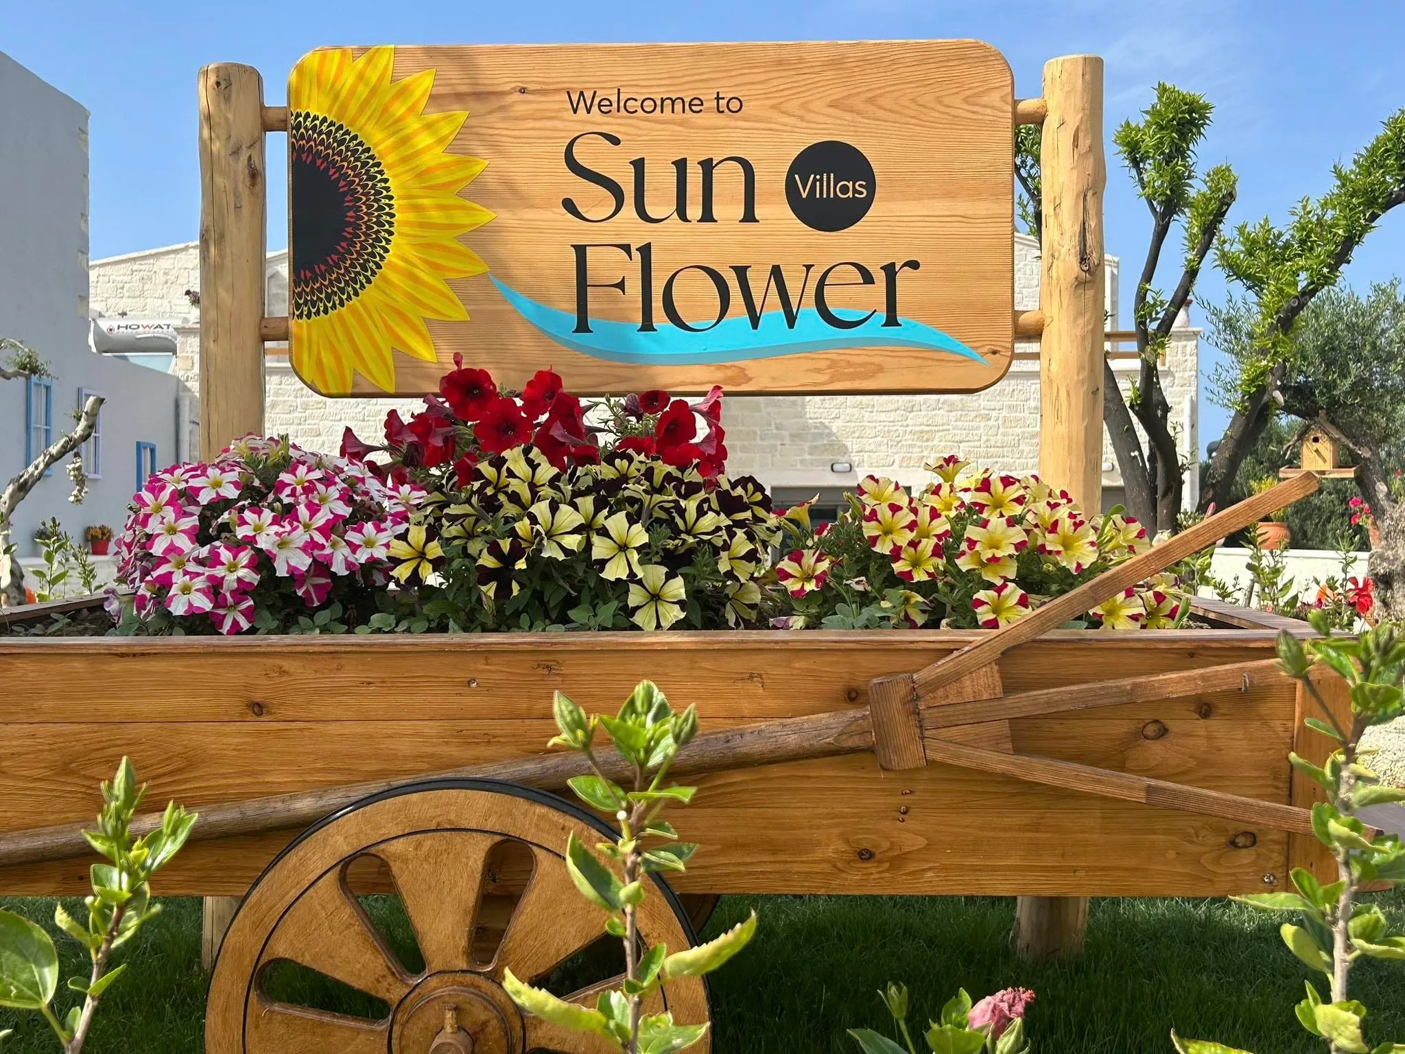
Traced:
[[[698, 705], [704, 732], [857, 711], [873, 677], [917, 669], [982, 635], [0, 641], [0, 673], [25, 686], [22, 704], [0, 713], [14, 745], [0, 765], [10, 802], [0, 829], [34, 816], [90, 821], [97, 781], [122, 753], [150, 781], [153, 807], [176, 798], [204, 808], [540, 756], [554, 689], [613, 711], [649, 676], [676, 705]], [[1272, 632], [1249, 630], [1058, 631], [1003, 655], [1000, 679], [1016, 697], [1117, 673], [1264, 661], [1272, 646]], [[91, 705], [97, 683], [101, 708]], [[153, 690], [167, 683], [183, 684], [180, 696]], [[1020, 752], [1287, 802], [1293, 720], [1294, 686], [1280, 679], [1249, 691], [1013, 718], [1010, 727]], [[1142, 738], [1151, 721], [1169, 734]], [[836, 729], [835, 749], [870, 749], [863, 731]], [[1264, 873], [1286, 874], [1286, 836], [1255, 828], [1256, 846], [1229, 846], [1243, 822], [948, 766], [882, 773], [861, 756], [764, 765], [769, 748], [740, 732], [729, 749], [750, 750], [756, 767], [698, 780], [704, 790], [679, 826], [705, 852], [680, 888], [863, 892], [881, 883], [912, 894], [1213, 895], [1262, 890]], [[769, 832], [762, 846], [747, 835], [757, 829]], [[995, 845], [992, 829], [1017, 836]], [[275, 831], [192, 843], [162, 873], [159, 891], [242, 894], [289, 838]], [[73, 894], [86, 871], [81, 859], [10, 867], [0, 870], [0, 891]]]

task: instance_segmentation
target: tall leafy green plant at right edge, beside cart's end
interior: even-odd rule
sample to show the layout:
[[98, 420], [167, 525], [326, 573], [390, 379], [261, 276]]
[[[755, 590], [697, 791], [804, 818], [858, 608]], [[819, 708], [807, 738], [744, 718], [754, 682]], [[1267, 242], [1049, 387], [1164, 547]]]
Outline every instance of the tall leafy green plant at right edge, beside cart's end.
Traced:
[[[1366, 1006], [1352, 999], [1347, 981], [1352, 967], [1364, 958], [1405, 960], [1405, 933], [1392, 933], [1385, 913], [1374, 904], [1357, 902], [1364, 885], [1392, 887], [1405, 881], [1405, 846], [1397, 835], [1373, 835], [1357, 811], [1368, 805], [1405, 801], [1405, 790], [1388, 787], [1363, 763], [1361, 735], [1373, 725], [1401, 717], [1401, 682], [1405, 679], [1405, 634], [1391, 625], [1367, 630], [1360, 637], [1333, 637], [1324, 611], [1308, 616], [1322, 639], [1300, 642], [1279, 635], [1279, 665], [1301, 682], [1325, 721], [1308, 718], [1315, 732], [1338, 743], [1326, 765], [1288, 755], [1293, 767], [1319, 783], [1328, 801], [1312, 807], [1312, 829], [1332, 850], [1338, 878], [1322, 885], [1302, 868], [1293, 870], [1297, 892], [1270, 892], [1236, 899], [1262, 911], [1300, 916], [1284, 923], [1284, 943], [1314, 972], [1326, 978], [1324, 996], [1312, 981], [1307, 999], [1294, 1010], [1302, 1027], [1319, 1037], [1332, 1054], [1401, 1054], [1405, 1044], [1370, 1044], [1364, 1037]], [[1350, 686], [1352, 720], [1338, 721], [1318, 689], [1315, 668], [1322, 666]], [[1182, 1054], [1243, 1054], [1218, 1043], [1182, 1040], [1172, 1033]]]

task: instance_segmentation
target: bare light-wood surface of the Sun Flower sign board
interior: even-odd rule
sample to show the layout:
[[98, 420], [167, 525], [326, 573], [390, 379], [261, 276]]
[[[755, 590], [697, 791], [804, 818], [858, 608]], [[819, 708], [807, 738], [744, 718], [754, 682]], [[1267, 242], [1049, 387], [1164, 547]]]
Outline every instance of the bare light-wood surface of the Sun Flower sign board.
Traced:
[[[500, 386], [521, 388], [551, 365], [570, 391], [631, 392], [666, 388], [729, 392], [926, 392], [978, 391], [1005, 375], [1012, 361], [1014, 223], [1012, 138], [1013, 77], [1005, 58], [975, 41], [858, 41], [843, 44], [641, 44], [565, 46], [396, 48], [395, 77], [434, 70], [426, 111], [466, 111], [450, 150], [482, 157], [488, 167], [462, 191], [495, 214], [462, 236], [510, 288], [541, 304], [575, 312], [572, 245], [652, 243], [655, 318], [666, 322], [662, 288], [690, 264], [750, 266], [753, 277], [783, 264], [799, 285], [805, 264], [813, 277], [851, 260], [881, 282], [884, 263], [917, 260], [899, 282], [899, 313], [954, 336], [985, 358], [910, 347], [811, 351], [802, 356], [717, 365], [631, 365], [569, 350], [520, 316], [488, 275], [451, 281], [468, 322], [430, 320], [437, 363], [396, 353], [396, 389], [437, 391], [454, 353], [488, 368]], [[568, 93], [697, 96], [701, 112], [572, 112]], [[739, 112], [717, 112], [715, 93], [740, 100]], [[299, 108], [299, 100], [289, 97]], [[613, 219], [610, 194], [570, 174], [566, 143], [583, 132], [584, 164], [620, 183], [627, 201]], [[860, 149], [874, 167], [877, 188], [868, 214], [842, 232], [805, 226], [785, 200], [795, 156], [821, 141]], [[701, 215], [704, 157], [742, 156], [754, 167], [754, 223], [739, 222], [742, 180], [736, 164], [715, 176], [715, 223]], [[645, 200], [653, 216], [672, 215], [673, 162], [690, 173], [687, 209], [693, 222], [651, 223], [635, 215], [631, 160], [645, 159]], [[576, 202], [572, 216], [563, 200]], [[603, 222], [594, 222], [603, 221]], [[292, 243], [298, 243], [298, 221]], [[627, 280], [624, 295], [590, 291], [592, 318], [638, 323], [639, 267], [621, 252], [592, 250], [594, 282]], [[837, 275], [836, 275], [837, 277]], [[757, 287], [759, 289], [760, 287]], [[812, 288], [809, 291], [812, 294]], [[698, 271], [674, 287], [681, 318], [717, 316], [718, 295]], [[853, 312], [882, 306], [881, 285], [833, 289], [833, 304]], [[811, 295], [806, 294], [806, 306]], [[776, 309], [774, 295], [770, 309]], [[732, 316], [745, 316], [735, 282]], [[296, 334], [294, 336], [296, 354]], [[358, 378], [355, 395], [381, 395]]]

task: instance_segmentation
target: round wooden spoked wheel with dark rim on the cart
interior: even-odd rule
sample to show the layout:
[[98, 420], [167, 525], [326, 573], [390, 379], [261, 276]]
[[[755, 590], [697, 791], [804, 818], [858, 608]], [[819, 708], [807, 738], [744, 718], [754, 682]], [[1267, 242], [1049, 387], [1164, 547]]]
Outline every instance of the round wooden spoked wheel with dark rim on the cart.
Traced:
[[[504, 970], [545, 984], [594, 944], [606, 913], [576, 891], [562, 853], [575, 832], [586, 845], [614, 833], [590, 814], [541, 791], [490, 780], [445, 780], [367, 798], [309, 829], [259, 877], [225, 936], [205, 1010], [208, 1054], [604, 1054], [613, 1047], [518, 1013], [500, 987]], [[510, 852], [507, 852], [510, 850]], [[514, 863], [502, 866], [513, 857]], [[410, 972], [367, 913], [357, 876], [388, 876], [424, 960]], [[516, 876], [516, 877], [514, 877]], [[693, 943], [677, 898], [662, 881], [643, 902], [639, 929], [670, 950]], [[520, 894], [520, 895], [518, 895]], [[506, 906], [504, 906], [506, 905]], [[607, 937], [614, 940], [613, 937]], [[608, 950], [608, 949], [606, 949]], [[618, 984], [603, 956], [566, 999], [594, 1005]], [[291, 964], [325, 987], [347, 985], [348, 1012], [289, 998], [270, 978]], [[315, 971], [315, 974], [308, 974]], [[611, 975], [614, 974], [614, 975]], [[325, 978], [332, 978], [326, 982]], [[364, 994], [370, 999], [360, 996]], [[355, 1002], [355, 1001], [354, 1001]], [[701, 978], [683, 978], [649, 1012], [680, 1023], [711, 1019]], [[695, 1050], [707, 1054], [710, 1039]]]

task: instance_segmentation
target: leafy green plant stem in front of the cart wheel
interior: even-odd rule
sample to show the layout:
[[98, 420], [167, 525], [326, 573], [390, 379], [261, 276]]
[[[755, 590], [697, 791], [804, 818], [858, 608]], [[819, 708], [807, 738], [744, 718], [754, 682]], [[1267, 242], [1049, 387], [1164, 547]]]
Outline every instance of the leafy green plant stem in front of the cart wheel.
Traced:
[[[561, 735], [552, 746], [579, 752], [590, 765], [590, 776], [570, 780], [570, 790], [583, 802], [611, 812], [620, 824], [614, 842], [600, 842], [601, 860], [575, 836], [566, 845], [566, 867], [580, 894], [610, 912], [606, 932], [624, 942], [625, 980], [621, 988], [601, 992], [594, 1008], [568, 1003], [551, 992], [525, 985], [506, 971], [503, 988], [524, 1012], [575, 1032], [594, 1033], [625, 1054], [672, 1054], [687, 1050], [707, 1033], [707, 1024], [676, 1024], [672, 1013], [643, 1012], [645, 999], [662, 985], [681, 977], [701, 977], [746, 947], [756, 932], [756, 913], [717, 940], [669, 954], [663, 944], [646, 947], [639, 935], [638, 909], [643, 902], [649, 874], [683, 871], [697, 850], [677, 840], [677, 832], [662, 819], [674, 802], [691, 801], [695, 787], [665, 783], [679, 749], [698, 729], [697, 710], [673, 713], [667, 697], [653, 682], [639, 682], [617, 717], [586, 714], [562, 693], [554, 713]], [[614, 742], [632, 769], [632, 790], [625, 790], [601, 769], [594, 753], [599, 731]]]

